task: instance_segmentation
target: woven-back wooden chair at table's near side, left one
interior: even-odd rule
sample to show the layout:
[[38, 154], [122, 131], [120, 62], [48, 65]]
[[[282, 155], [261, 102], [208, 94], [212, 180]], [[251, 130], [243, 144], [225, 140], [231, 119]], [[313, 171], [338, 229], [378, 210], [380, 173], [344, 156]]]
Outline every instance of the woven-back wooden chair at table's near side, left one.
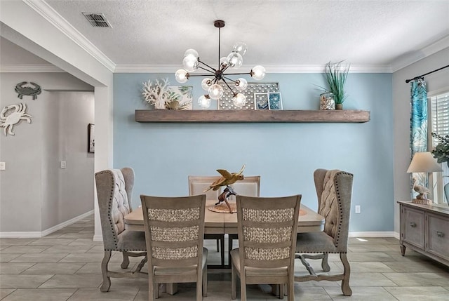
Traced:
[[203, 248], [206, 195], [141, 195], [148, 257], [149, 300], [159, 283], [196, 282], [196, 300], [207, 295], [207, 257]]

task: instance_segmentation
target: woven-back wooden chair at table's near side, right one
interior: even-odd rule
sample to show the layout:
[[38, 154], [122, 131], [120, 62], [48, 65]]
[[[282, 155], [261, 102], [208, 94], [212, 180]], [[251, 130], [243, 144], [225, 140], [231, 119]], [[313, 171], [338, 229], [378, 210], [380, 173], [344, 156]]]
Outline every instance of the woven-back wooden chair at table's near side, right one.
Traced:
[[246, 284], [279, 284], [281, 299], [286, 285], [288, 300], [295, 300], [293, 276], [300, 201], [301, 195], [237, 195], [239, 248], [231, 251], [233, 300], [237, 276], [242, 301], [246, 300]]

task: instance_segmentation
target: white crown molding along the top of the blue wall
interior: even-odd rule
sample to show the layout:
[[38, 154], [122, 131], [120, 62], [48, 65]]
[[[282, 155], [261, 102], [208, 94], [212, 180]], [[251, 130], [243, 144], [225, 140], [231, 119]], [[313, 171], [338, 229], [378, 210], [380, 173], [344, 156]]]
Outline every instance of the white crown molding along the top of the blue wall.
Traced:
[[[174, 73], [180, 65], [116, 65], [114, 73]], [[250, 70], [253, 66], [240, 67]], [[326, 65], [269, 65], [267, 73], [324, 73]], [[350, 73], [391, 73], [390, 65], [351, 65]]]

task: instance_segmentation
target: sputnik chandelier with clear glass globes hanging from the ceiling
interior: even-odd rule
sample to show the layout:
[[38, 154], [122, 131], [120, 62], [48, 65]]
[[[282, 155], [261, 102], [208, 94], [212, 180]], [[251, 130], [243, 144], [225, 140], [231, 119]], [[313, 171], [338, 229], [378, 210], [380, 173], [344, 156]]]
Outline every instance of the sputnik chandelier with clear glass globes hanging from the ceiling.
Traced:
[[[175, 73], [175, 79], [178, 83], [185, 83], [189, 80], [191, 76], [208, 76], [207, 74], [191, 74], [191, 72], [195, 72], [198, 69], [202, 69], [206, 72], [210, 72], [213, 78], [206, 77], [201, 81], [201, 88], [205, 91], [208, 91], [208, 94], [201, 95], [198, 99], [198, 104], [202, 108], [208, 108], [210, 106], [210, 100], [219, 100], [225, 93], [223, 87], [220, 85], [220, 82], [225, 83], [225, 86], [229, 88], [232, 92], [232, 102], [236, 107], [243, 107], [246, 105], [246, 96], [243, 95], [242, 91], [245, 91], [248, 86], [248, 81], [243, 79], [242, 77], [236, 79], [229, 79], [229, 75], [242, 75], [249, 74], [253, 79], [263, 79], [265, 76], [265, 68], [257, 65], [251, 69], [250, 72], [246, 73], [225, 73], [227, 69], [233, 68], [237, 69], [241, 67], [243, 64], [243, 55], [245, 55], [247, 47], [243, 42], [236, 42], [234, 44], [234, 48], [232, 48], [232, 52], [225, 57], [220, 57], [220, 29], [225, 27], [225, 21], [216, 20], [213, 22], [213, 25], [218, 28], [218, 67], [217, 69], [207, 65], [205, 62], [202, 62], [199, 59], [198, 52], [194, 49], [187, 49], [184, 54], [184, 60], [182, 60], [182, 66], [184, 69], [179, 69]], [[234, 92], [231, 88], [234, 86], [238, 92]]]

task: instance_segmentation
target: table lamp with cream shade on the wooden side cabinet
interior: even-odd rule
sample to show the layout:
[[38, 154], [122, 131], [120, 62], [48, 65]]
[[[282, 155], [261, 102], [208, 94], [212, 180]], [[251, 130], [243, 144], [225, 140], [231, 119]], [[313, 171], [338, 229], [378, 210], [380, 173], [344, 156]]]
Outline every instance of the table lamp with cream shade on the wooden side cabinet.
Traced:
[[[408, 166], [407, 173], [426, 173], [426, 175], [430, 173], [429, 179], [431, 179], [431, 173], [438, 171], [443, 171], [443, 168], [436, 163], [434, 156], [430, 152], [417, 152], [413, 156], [410, 166]], [[424, 205], [430, 205], [432, 203], [431, 199], [427, 199], [427, 194], [430, 193], [430, 190], [425, 186], [418, 185], [415, 177], [413, 177], [413, 189], [418, 195], [412, 200], [412, 203]]]

